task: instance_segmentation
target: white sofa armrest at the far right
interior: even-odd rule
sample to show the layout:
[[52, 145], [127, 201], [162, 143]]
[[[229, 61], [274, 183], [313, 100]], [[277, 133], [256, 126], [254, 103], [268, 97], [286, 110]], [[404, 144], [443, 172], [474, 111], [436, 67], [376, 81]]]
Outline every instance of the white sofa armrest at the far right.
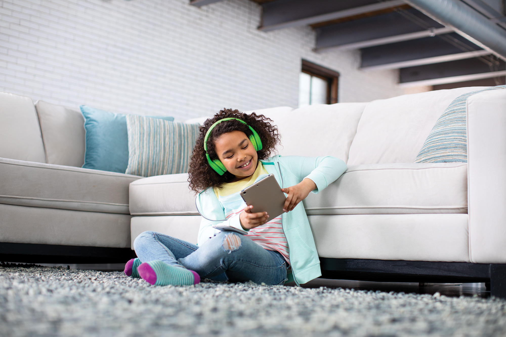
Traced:
[[506, 90], [468, 98], [469, 255], [506, 263]]

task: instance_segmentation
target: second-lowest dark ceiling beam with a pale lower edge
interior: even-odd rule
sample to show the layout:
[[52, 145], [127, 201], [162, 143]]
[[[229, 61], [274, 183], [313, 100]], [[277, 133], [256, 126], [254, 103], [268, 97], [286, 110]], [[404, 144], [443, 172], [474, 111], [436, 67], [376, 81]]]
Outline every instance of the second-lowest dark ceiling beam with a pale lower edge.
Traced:
[[364, 48], [361, 53], [362, 70], [398, 69], [490, 54], [457, 33]]

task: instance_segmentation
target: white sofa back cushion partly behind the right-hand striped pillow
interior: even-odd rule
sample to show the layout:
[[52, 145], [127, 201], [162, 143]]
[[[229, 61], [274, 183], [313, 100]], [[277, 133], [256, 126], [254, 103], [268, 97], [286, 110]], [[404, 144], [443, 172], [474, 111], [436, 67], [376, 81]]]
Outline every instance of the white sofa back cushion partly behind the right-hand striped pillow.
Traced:
[[358, 123], [347, 163], [414, 162], [448, 104], [459, 95], [484, 88], [437, 90], [370, 102]]

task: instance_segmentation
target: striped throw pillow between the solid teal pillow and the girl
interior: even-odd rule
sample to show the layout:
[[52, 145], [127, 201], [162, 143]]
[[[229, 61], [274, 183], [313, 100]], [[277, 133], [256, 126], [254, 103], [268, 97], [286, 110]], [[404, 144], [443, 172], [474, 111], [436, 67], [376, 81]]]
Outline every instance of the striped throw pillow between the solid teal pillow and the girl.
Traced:
[[128, 167], [126, 174], [151, 177], [188, 172], [199, 124], [126, 115]]

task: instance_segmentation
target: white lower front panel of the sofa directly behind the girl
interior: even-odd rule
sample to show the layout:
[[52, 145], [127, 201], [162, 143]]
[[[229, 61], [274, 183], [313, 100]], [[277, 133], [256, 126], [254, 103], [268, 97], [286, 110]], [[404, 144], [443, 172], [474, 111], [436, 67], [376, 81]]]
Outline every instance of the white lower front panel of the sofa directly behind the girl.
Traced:
[[[132, 217], [132, 248], [144, 231], [197, 243], [201, 219]], [[471, 262], [467, 214], [310, 215], [308, 219], [322, 258]]]

